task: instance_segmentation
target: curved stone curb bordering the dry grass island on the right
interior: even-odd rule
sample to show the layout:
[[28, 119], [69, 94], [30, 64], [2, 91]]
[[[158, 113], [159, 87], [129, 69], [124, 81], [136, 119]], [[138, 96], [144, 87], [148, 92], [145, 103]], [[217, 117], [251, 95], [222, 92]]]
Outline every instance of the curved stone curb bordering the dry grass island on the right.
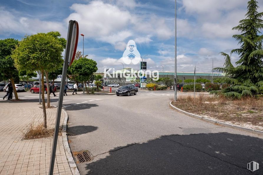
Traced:
[[179, 111], [179, 112], [181, 112], [181, 113], [183, 113], [183, 114], [186, 114], [186, 115], [188, 115], [188, 116], [191, 116], [191, 117], [193, 117], [193, 118], [196, 118], [196, 119], [204, 120], [204, 121], [207, 121], [207, 122], [213, 123], [213, 124], [219, 124], [219, 125], [222, 125], [222, 126], [226, 126], [226, 127], [229, 127], [229, 128], [233, 128], [233, 129], [239, 129], [239, 130], [242, 130], [242, 131], [247, 131], [247, 132], [250, 132], [250, 133], [253, 133], [253, 134], [263, 135], [263, 131], [259, 131], [259, 130], [256, 130], [256, 129], [245, 128], [245, 127], [237, 126], [237, 125], [233, 125], [233, 124], [228, 124], [228, 123], [225, 123], [225, 122], [221, 122], [221, 121], [217, 121], [217, 120], [213, 120], [213, 119], [201, 117], [201, 116], [199, 116], [199, 115], [196, 115], [196, 114], [192, 114], [192, 113], [183, 111], [182, 109], [179, 109], [179, 108], [173, 106], [173, 105], [172, 105], [172, 102], [170, 102], [170, 106], [172, 106], [172, 107], [173, 107], [174, 109], [176, 109], [177, 111]]

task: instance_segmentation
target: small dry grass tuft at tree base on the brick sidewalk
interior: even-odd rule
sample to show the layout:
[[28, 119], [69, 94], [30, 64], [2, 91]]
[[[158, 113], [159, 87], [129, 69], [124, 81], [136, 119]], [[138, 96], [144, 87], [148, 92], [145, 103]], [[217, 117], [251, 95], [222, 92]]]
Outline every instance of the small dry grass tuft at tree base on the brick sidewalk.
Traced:
[[[41, 139], [41, 138], [48, 138], [48, 137], [53, 137], [54, 136], [54, 129], [46, 129], [44, 128], [44, 125], [38, 124], [34, 125], [34, 121], [32, 121], [29, 126], [28, 130], [24, 134], [25, 140], [27, 139]], [[59, 136], [62, 135], [62, 129], [59, 128]]]

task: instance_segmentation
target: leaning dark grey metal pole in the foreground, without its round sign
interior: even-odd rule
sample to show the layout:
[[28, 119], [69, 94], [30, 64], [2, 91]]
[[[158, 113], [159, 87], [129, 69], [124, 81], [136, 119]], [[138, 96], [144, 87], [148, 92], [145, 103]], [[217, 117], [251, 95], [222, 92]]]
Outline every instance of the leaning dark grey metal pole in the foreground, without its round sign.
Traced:
[[68, 28], [68, 35], [67, 35], [67, 46], [66, 46], [66, 50], [65, 50], [64, 65], [63, 65], [63, 71], [62, 71], [62, 77], [61, 77], [61, 85], [60, 85], [60, 91], [59, 91], [56, 124], [55, 124], [53, 146], [52, 146], [51, 159], [50, 159], [50, 165], [49, 165], [49, 175], [53, 174], [53, 169], [54, 169], [54, 162], [55, 162], [56, 149], [57, 149], [59, 122], [60, 122], [62, 102], [63, 102], [63, 91], [64, 91], [65, 80], [66, 80], [66, 75], [67, 75], [67, 66], [69, 64], [68, 60], [69, 60], [69, 55], [70, 55], [70, 45], [71, 45], [71, 36], [72, 36], [72, 31], [73, 31], [73, 25], [74, 25], [74, 21], [70, 20], [69, 21], [69, 28]]

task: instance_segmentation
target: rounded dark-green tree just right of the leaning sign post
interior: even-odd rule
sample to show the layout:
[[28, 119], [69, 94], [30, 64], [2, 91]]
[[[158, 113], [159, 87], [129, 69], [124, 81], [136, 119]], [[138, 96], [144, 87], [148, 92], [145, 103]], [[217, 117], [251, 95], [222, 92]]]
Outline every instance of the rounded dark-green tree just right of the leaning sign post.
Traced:
[[98, 70], [97, 62], [92, 59], [80, 58], [74, 61], [69, 67], [71, 74], [77, 75], [77, 80], [85, 82], [85, 88], [89, 93], [86, 81], [90, 80], [90, 77]]

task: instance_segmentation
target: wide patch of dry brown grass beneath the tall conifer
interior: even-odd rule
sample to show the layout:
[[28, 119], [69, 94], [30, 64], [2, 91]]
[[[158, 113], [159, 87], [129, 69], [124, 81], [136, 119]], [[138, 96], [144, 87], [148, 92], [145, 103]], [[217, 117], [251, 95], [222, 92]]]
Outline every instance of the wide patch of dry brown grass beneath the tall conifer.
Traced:
[[[228, 100], [223, 96], [180, 96], [173, 105], [190, 113], [207, 118], [228, 121], [240, 126], [250, 125], [263, 130], [263, 98], [243, 98]], [[248, 127], [248, 126], [247, 126]]]

